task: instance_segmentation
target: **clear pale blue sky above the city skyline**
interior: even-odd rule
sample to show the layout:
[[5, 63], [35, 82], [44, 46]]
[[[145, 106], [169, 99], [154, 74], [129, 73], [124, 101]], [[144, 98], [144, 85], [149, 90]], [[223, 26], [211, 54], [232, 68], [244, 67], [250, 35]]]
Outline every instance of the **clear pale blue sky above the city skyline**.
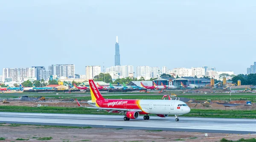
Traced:
[[[256, 61], [255, 0], [0, 0], [0, 68], [75, 64], [246, 74]], [[0, 71], [2, 74], [2, 69]]]

